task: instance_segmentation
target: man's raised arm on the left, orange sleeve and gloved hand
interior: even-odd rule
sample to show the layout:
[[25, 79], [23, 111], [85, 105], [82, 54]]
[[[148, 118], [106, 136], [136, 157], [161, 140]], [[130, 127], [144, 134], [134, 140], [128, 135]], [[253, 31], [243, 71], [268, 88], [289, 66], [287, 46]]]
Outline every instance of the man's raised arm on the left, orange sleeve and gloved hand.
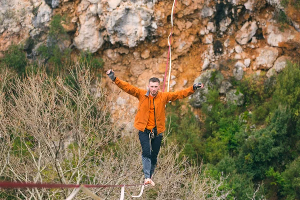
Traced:
[[136, 98], [140, 97], [140, 95], [142, 93], [142, 89], [135, 87], [135, 86], [129, 84], [128, 82], [123, 81], [123, 80], [119, 79], [118, 77], [116, 77], [114, 75], [114, 72], [112, 69], [107, 70], [106, 74], [112, 81], [115, 82], [116, 86], [118, 86], [119, 88], [124, 90], [126, 93], [128, 93], [132, 96], [135, 96]]

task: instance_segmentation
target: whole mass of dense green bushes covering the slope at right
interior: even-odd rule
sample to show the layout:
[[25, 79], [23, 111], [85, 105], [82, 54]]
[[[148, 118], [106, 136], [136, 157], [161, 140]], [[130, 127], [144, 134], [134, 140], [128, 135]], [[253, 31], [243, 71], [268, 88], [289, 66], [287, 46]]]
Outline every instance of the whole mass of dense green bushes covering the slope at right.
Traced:
[[[213, 177], [229, 175], [224, 187], [233, 189], [232, 199], [247, 199], [261, 182], [257, 196], [299, 198], [299, 68], [288, 63], [278, 76], [232, 81], [243, 107], [221, 102], [214, 90], [206, 95], [202, 157]], [[253, 123], [261, 127], [251, 129]]]

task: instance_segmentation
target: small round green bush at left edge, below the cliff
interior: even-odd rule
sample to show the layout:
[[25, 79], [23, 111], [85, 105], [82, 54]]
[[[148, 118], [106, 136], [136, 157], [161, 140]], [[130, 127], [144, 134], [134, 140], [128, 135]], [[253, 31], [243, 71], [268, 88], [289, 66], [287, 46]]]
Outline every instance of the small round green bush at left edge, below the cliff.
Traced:
[[1, 65], [6, 65], [21, 75], [25, 72], [28, 59], [21, 45], [12, 44], [8, 50], [4, 52], [4, 57], [1, 59], [1, 62]]

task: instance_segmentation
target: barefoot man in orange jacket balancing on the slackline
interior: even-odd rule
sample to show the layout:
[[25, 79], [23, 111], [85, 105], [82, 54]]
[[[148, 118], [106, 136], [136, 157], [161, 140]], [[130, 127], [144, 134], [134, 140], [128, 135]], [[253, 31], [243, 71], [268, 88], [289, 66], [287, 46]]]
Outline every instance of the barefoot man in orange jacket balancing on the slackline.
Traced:
[[134, 119], [134, 127], [138, 129], [138, 137], [142, 149], [142, 166], [145, 176], [144, 184], [155, 185], [152, 175], [157, 162], [162, 132], [165, 130], [165, 105], [168, 101], [185, 98], [194, 93], [197, 88], [203, 88], [202, 83], [196, 83], [186, 89], [174, 92], [160, 92], [159, 79], [149, 79], [148, 90], [137, 88], [114, 75], [112, 69], [106, 71], [115, 84], [132, 96], [138, 98], [138, 108]]

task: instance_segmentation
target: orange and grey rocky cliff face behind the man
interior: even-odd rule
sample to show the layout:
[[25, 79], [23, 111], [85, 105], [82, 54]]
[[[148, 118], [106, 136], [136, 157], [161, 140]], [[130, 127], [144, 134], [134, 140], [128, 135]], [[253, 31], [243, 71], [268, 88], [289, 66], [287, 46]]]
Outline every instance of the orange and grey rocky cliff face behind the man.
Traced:
[[[170, 0], [1, 0], [0, 50], [22, 43], [34, 54], [46, 42], [52, 16], [64, 15], [64, 43], [94, 52], [105, 69], [145, 87], [151, 76], [163, 79], [171, 6]], [[220, 81], [261, 70], [270, 76], [287, 58], [299, 57], [300, 14], [290, 3], [184, 0], [177, 1], [175, 13], [170, 90], [205, 79], [206, 70], [220, 71]], [[282, 25], [278, 13], [288, 23]], [[34, 45], [26, 45], [28, 38]]]

